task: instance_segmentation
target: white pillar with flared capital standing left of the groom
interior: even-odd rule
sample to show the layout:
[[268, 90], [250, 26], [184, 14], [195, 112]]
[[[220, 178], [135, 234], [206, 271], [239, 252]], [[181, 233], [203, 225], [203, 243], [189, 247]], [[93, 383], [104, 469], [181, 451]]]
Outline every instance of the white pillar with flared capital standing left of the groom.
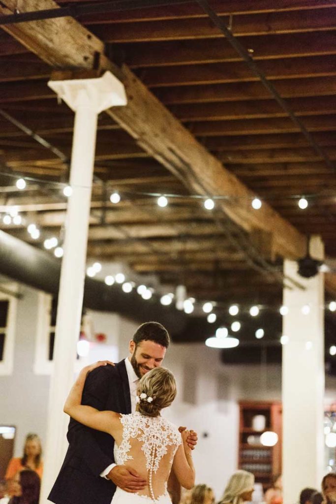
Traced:
[[74, 380], [86, 270], [86, 250], [98, 113], [113, 105], [125, 105], [124, 87], [110, 72], [98, 79], [49, 81], [75, 112], [70, 170], [72, 196], [65, 218], [65, 239], [58, 292], [57, 319], [50, 381], [44, 474], [40, 502], [47, 496], [62, 464], [68, 443], [69, 417], [63, 404]]

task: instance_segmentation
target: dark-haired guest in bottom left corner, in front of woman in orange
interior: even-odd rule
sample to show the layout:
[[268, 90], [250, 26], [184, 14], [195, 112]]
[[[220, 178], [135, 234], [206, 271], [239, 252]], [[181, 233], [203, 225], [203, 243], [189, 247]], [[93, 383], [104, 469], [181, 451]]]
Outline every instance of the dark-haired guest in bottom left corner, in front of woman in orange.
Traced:
[[35, 471], [24, 469], [9, 481], [7, 497], [2, 498], [0, 504], [38, 504], [40, 478]]

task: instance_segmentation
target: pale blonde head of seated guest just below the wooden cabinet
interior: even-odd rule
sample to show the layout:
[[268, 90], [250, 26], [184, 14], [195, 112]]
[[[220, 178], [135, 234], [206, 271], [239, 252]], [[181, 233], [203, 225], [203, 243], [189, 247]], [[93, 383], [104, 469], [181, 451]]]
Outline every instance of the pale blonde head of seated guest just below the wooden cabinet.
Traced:
[[220, 504], [242, 504], [252, 500], [254, 476], [247, 471], [233, 473], [225, 487]]

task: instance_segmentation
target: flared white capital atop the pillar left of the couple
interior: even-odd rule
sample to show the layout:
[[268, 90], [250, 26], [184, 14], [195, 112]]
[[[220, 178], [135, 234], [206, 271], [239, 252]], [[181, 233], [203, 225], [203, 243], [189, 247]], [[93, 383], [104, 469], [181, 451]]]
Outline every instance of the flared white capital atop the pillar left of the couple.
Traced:
[[48, 86], [75, 112], [86, 107], [99, 114], [127, 104], [124, 85], [108, 71], [97, 78], [50, 80]]

